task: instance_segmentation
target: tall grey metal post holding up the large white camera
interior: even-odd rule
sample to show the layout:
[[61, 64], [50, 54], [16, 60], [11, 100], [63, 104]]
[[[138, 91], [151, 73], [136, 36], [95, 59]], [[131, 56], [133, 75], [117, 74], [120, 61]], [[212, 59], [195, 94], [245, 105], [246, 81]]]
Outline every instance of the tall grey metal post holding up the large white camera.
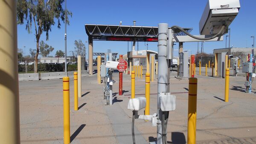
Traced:
[[157, 144], [162, 142], [162, 111], [159, 105], [160, 93], [167, 92], [168, 86], [168, 65], [166, 61], [166, 45], [167, 45], [168, 24], [158, 24], [158, 79], [157, 79], [157, 116], [160, 118], [157, 121]]

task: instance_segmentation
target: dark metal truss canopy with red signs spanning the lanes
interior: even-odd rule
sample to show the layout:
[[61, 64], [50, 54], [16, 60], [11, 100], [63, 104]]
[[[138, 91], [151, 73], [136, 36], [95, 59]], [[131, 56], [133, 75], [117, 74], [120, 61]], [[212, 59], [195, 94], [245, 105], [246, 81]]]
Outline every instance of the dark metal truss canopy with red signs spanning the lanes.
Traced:
[[[191, 32], [193, 28], [183, 28]], [[108, 41], [155, 41], [157, 42], [158, 27], [156, 26], [130, 26], [130, 25], [93, 25], [85, 24], [85, 31], [88, 37], [93, 40]], [[186, 34], [177, 28], [173, 28], [175, 36]]]

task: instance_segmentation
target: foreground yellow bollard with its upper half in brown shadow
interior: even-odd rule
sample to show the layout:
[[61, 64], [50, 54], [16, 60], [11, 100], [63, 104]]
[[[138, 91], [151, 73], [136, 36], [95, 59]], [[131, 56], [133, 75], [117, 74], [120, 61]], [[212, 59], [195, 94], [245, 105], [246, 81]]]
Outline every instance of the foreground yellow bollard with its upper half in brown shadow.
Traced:
[[188, 144], [196, 143], [197, 78], [189, 78]]

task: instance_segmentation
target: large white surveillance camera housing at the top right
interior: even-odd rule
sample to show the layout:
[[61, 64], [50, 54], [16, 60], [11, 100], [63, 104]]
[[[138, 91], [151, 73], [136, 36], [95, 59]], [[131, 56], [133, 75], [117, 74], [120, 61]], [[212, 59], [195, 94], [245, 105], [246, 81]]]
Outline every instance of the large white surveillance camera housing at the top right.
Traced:
[[217, 34], [223, 25], [224, 33], [239, 12], [239, 0], [209, 0], [199, 22], [199, 32], [202, 35]]

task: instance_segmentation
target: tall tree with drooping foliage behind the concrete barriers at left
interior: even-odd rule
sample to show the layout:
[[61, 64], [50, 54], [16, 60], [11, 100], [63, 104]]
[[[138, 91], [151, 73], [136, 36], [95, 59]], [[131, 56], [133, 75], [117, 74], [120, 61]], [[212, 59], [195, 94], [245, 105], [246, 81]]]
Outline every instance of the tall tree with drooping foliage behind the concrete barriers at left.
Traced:
[[[46, 40], [49, 39], [49, 31], [58, 21], [58, 28], [61, 28], [61, 21], [65, 21], [65, 10], [62, 8], [64, 0], [17, 0], [17, 24], [26, 23], [28, 33], [32, 32], [32, 25], [35, 26], [36, 54], [35, 73], [37, 73], [37, 63], [39, 54], [39, 41], [43, 31], [46, 32]], [[72, 13], [67, 10], [67, 15]], [[67, 24], [69, 20], [66, 19]]]

